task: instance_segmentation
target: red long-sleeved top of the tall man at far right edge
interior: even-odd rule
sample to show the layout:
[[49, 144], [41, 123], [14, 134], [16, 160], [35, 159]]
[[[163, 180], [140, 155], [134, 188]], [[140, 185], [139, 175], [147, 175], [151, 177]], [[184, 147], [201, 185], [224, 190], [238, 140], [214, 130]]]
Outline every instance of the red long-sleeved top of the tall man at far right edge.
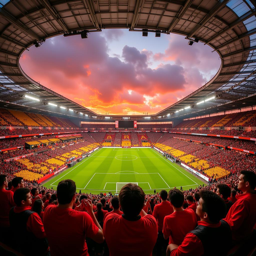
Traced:
[[232, 240], [246, 240], [253, 232], [256, 223], [256, 192], [236, 196], [237, 201], [231, 206], [225, 221], [228, 222]]

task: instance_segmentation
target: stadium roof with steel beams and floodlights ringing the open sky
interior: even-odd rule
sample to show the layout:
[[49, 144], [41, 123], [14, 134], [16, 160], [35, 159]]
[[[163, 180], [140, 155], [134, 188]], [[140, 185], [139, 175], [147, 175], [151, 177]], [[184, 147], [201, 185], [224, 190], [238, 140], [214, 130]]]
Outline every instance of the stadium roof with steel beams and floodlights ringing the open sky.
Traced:
[[183, 35], [191, 43], [211, 46], [221, 59], [211, 81], [151, 119], [167, 114], [188, 118], [255, 105], [255, 6], [254, 0], [0, 0], [0, 102], [20, 110], [33, 108], [71, 116], [83, 113], [103, 119], [104, 115], [26, 76], [19, 58], [31, 45], [40, 46], [53, 36], [129, 28]]

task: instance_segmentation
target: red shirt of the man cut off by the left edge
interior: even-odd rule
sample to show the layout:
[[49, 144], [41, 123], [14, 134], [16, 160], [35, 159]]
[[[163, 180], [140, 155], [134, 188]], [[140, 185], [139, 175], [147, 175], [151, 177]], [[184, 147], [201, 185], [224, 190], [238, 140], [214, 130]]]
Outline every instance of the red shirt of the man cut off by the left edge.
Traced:
[[9, 227], [9, 211], [15, 206], [13, 191], [0, 189], [0, 227]]

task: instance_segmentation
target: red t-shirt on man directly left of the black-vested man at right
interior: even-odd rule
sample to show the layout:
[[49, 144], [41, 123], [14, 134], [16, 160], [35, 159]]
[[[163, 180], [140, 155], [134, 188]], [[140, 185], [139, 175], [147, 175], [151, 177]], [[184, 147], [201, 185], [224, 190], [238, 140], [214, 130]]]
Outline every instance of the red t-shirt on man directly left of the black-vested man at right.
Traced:
[[164, 218], [163, 234], [169, 236], [169, 244], [180, 245], [188, 232], [196, 227], [196, 214], [193, 209], [175, 211]]

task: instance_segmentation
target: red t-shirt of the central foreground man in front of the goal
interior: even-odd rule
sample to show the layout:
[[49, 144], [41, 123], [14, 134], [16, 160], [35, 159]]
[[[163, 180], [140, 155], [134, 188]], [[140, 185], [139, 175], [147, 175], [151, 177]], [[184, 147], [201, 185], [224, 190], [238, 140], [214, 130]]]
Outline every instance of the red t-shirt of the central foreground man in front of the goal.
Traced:
[[152, 215], [129, 221], [112, 213], [104, 221], [103, 233], [111, 256], [151, 256], [158, 232]]

